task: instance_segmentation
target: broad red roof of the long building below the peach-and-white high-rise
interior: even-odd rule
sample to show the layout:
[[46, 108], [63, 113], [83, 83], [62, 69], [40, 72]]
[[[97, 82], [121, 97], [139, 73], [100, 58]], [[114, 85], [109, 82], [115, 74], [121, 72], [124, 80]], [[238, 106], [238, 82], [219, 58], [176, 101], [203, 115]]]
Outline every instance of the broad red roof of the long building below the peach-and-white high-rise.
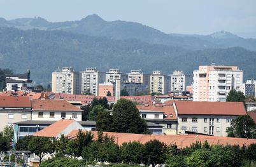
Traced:
[[245, 115], [243, 102], [175, 101], [178, 114]]

